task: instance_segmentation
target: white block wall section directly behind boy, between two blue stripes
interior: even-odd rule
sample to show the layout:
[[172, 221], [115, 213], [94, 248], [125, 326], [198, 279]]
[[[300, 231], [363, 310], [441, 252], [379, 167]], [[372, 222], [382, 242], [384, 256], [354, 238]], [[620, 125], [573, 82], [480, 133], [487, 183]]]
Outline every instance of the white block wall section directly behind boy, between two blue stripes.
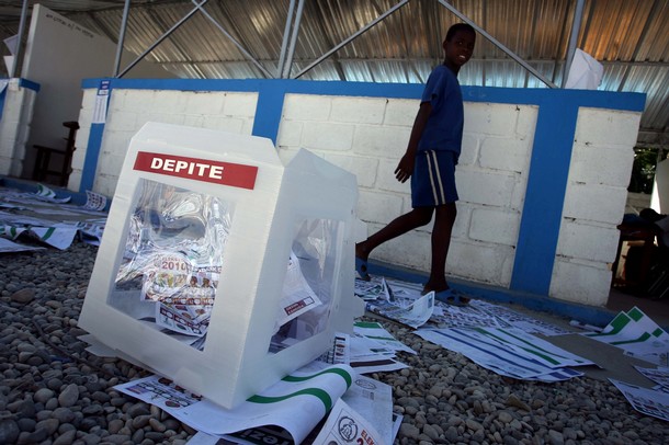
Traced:
[[[354, 173], [358, 215], [371, 233], [411, 208], [409, 182], [397, 182], [394, 171], [418, 106], [419, 100], [287, 94], [276, 138], [280, 156], [287, 160], [306, 148]], [[465, 103], [449, 274], [509, 286], [535, 125], [536, 106]], [[392, 240], [372, 258], [429, 270], [431, 230], [430, 224]]]

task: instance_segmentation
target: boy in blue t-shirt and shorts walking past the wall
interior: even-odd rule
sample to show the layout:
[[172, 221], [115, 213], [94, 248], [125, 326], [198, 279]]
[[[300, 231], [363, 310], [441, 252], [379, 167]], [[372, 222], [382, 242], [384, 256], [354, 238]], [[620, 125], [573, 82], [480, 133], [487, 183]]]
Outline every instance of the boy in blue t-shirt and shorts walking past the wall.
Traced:
[[476, 32], [466, 23], [449, 28], [443, 42], [444, 61], [430, 73], [413, 122], [407, 151], [395, 169], [399, 182], [411, 179], [412, 210], [355, 244], [355, 270], [363, 279], [367, 274], [370, 253], [383, 244], [426, 226], [434, 215], [430, 277], [423, 294], [434, 292], [436, 299], [454, 305], [466, 304], [449, 287], [445, 276], [446, 255], [455, 222], [457, 190], [455, 166], [462, 147], [464, 106], [457, 72], [472, 57]]

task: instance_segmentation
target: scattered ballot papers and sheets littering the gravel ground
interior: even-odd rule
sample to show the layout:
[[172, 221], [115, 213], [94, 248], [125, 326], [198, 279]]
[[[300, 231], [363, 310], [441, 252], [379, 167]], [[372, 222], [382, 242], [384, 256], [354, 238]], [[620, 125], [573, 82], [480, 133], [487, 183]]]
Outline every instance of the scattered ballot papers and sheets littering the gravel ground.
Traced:
[[[44, 186], [37, 193], [0, 189], [0, 252], [67, 249], [76, 237], [99, 242], [106, 216], [101, 212], [104, 197], [89, 193], [84, 206], [72, 206], [66, 199]], [[574, 331], [501, 305], [472, 299], [465, 307], [449, 306], [435, 301], [433, 294], [421, 295], [420, 285], [384, 277], [356, 279], [355, 294], [366, 301], [368, 313], [376, 316], [370, 320], [377, 321], [356, 322], [353, 335], [338, 334], [332, 349], [319, 360], [235, 409], [223, 409], [160, 376], [117, 389], [197, 430], [190, 441], [194, 445], [215, 444], [219, 438], [291, 444], [307, 437], [316, 444], [344, 444], [360, 437], [365, 443], [392, 444], [401, 423], [401, 417], [393, 413], [392, 388], [367, 375], [406, 368], [401, 354], [416, 352], [396, 340], [384, 328], [386, 322], [409, 327], [420, 338], [514, 379], [560, 381], [583, 376], [579, 368], [596, 366], [548, 340]], [[667, 332], [634, 308], [621, 312], [600, 332], [582, 335], [646, 361], [649, 366], [635, 372], [657, 383], [656, 387], [611, 381], [639, 412], [669, 420]]]

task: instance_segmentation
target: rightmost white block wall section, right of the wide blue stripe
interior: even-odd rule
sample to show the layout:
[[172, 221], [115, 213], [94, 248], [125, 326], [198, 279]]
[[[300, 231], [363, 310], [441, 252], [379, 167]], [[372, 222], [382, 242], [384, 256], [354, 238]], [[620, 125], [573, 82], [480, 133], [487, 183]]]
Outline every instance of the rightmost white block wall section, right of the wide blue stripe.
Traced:
[[551, 295], [605, 305], [639, 121], [638, 113], [579, 111]]

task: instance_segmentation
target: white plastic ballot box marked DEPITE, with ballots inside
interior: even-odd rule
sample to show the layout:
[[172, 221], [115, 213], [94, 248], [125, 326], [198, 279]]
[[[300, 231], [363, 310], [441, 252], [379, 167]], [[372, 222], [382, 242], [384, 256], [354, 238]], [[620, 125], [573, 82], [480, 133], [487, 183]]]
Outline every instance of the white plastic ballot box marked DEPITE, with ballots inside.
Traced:
[[148, 123], [132, 139], [79, 326], [231, 408], [362, 315], [355, 178], [269, 139]]

